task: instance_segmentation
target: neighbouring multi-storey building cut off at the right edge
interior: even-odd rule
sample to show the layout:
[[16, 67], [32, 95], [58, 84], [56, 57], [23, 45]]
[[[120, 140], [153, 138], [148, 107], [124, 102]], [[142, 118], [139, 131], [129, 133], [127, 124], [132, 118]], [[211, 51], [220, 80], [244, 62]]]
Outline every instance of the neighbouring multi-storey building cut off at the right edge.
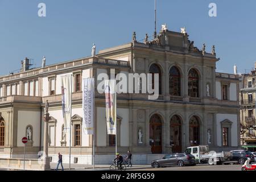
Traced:
[[251, 151], [256, 150], [256, 123], [255, 123], [255, 104], [256, 104], [256, 63], [255, 69], [241, 77], [242, 86], [240, 90], [241, 103], [241, 146]]

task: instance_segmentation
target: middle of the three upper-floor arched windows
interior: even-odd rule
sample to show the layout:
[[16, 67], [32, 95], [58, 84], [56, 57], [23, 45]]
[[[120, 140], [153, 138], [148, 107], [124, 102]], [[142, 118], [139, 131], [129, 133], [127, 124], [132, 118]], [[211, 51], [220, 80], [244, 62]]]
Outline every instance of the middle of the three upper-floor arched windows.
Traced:
[[180, 96], [180, 71], [176, 67], [170, 69], [169, 90], [171, 96]]

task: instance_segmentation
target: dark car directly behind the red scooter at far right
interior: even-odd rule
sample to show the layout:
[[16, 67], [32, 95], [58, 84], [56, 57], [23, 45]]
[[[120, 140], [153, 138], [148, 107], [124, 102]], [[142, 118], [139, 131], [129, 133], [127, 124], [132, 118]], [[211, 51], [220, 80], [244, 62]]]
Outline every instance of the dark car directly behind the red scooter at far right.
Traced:
[[231, 152], [232, 161], [237, 161], [239, 164], [244, 164], [247, 158], [251, 158], [251, 161], [254, 162], [254, 155], [249, 150], [233, 150]]

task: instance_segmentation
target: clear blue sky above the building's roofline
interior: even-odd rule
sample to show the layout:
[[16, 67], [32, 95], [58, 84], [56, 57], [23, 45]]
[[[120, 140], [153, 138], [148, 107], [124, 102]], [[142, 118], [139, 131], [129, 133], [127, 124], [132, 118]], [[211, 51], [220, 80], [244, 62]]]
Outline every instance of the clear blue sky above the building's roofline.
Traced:
[[[46, 3], [47, 16], [38, 16]], [[217, 4], [217, 17], [208, 15], [209, 3]], [[180, 31], [186, 27], [195, 46], [216, 46], [217, 71], [233, 73], [254, 67], [256, 61], [255, 0], [158, 0], [161, 24]], [[154, 0], [0, 0], [0, 75], [21, 67], [24, 57], [40, 66], [90, 56], [92, 43], [100, 49], [154, 32]], [[248, 70], [247, 70], [248, 71]]]

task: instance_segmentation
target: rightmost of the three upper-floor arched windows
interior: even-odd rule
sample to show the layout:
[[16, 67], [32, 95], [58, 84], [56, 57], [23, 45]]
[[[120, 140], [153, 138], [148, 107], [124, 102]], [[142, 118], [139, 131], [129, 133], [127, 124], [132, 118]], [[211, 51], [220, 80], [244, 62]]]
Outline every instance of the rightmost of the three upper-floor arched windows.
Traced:
[[196, 69], [191, 69], [188, 73], [188, 96], [199, 97], [199, 75]]

